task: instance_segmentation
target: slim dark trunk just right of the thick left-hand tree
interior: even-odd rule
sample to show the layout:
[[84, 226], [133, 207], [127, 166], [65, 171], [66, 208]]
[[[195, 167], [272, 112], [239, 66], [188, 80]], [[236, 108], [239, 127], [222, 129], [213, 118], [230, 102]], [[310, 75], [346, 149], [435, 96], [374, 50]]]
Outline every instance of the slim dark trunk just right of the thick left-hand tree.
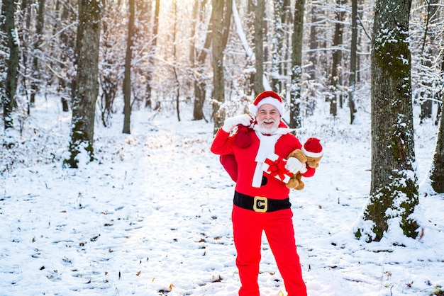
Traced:
[[130, 19], [128, 21], [128, 40], [126, 42], [125, 77], [123, 78], [123, 133], [131, 134], [131, 57], [133, 55], [133, 35], [135, 18], [135, 0], [129, 0]]

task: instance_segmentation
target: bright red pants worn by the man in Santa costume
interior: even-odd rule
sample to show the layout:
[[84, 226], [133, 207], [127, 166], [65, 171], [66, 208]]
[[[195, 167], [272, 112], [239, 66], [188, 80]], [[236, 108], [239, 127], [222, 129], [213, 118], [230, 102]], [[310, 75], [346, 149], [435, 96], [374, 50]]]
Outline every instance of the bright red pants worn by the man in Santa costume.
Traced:
[[262, 231], [276, 259], [277, 268], [284, 280], [288, 296], [306, 296], [301, 264], [294, 240], [293, 212], [290, 209], [276, 212], [254, 212], [233, 206], [233, 237], [238, 256], [240, 283], [239, 296], [259, 296], [260, 249]]

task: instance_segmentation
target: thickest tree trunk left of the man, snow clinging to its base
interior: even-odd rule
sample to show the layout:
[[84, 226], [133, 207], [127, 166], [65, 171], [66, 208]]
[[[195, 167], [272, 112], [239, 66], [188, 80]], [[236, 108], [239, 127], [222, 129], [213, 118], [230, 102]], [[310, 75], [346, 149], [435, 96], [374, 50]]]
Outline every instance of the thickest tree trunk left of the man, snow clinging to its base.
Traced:
[[65, 159], [65, 164], [72, 168], [78, 167], [81, 160], [79, 154], [86, 152], [89, 161], [94, 159], [94, 115], [99, 94], [100, 20], [100, 0], [79, 0], [77, 76], [72, 102], [70, 159]]

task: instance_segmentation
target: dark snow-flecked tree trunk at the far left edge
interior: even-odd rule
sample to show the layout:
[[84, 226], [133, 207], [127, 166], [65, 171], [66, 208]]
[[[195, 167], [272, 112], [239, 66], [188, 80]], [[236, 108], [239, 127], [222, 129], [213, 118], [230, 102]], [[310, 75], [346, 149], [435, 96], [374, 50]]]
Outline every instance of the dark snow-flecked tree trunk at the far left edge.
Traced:
[[[17, 89], [17, 75], [18, 75], [18, 34], [15, 24], [16, 4], [13, 0], [4, 0], [1, 9], [1, 15], [4, 18], [4, 23], [1, 24], [2, 31], [7, 38], [7, 49], [9, 50], [9, 57], [6, 60], [6, 80], [0, 82], [2, 90], [0, 96], [3, 97], [3, 120], [4, 130], [8, 137], [9, 130], [13, 128], [12, 111], [14, 106], [14, 98]], [[6, 58], [5, 57], [5, 58]], [[2, 79], [0, 79], [1, 81]], [[13, 143], [4, 143], [10, 146]]]

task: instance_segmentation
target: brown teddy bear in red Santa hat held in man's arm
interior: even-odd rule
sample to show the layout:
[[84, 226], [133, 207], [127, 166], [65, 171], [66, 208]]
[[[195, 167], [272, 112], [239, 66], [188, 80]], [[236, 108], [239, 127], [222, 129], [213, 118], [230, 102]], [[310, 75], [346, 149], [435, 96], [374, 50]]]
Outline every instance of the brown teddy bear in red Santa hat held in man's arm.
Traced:
[[301, 174], [311, 171], [309, 174], [313, 176], [314, 169], [318, 168], [319, 161], [321, 161], [323, 156], [323, 149], [320, 142], [319, 139], [311, 137], [304, 143], [301, 149], [296, 149], [287, 156], [287, 159], [289, 159], [289, 157], [296, 157], [301, 163], [306, 164], [306, 168], [294, 173], [290, 177], [287, 188], [294, 190], [304, 189], [305, 184], [304, 181], [301, 180]]

